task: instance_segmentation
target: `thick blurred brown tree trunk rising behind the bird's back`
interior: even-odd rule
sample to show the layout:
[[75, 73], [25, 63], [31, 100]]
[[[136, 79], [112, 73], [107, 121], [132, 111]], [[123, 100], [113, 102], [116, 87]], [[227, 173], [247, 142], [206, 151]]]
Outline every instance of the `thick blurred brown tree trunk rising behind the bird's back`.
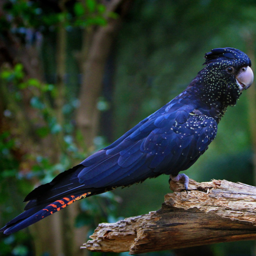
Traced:
[[105, 1], [108, 12], [121, 10], [116, 19], [107, 18], [106, 26], [97, 29], [88, 28], [83, 35], [83, 48], [80, 55], [81, 73], [83, 76], [79, 92], [80, 107], [77, 110], [76, 123], [85, 139], [87, 149], [92, 149], [93, 139], [97, 134], [99, 111], [96, 103], [102, 93], [102, 78], [106, 60], [113, 45], [115, 36], [121, 26], [125, 6], [131, 0]]

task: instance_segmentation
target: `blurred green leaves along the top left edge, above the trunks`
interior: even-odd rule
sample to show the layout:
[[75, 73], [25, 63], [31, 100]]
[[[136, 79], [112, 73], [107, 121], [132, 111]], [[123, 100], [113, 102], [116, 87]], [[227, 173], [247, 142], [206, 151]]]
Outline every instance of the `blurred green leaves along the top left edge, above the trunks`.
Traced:
[[[47, 31], [56, 28], [60, 23], [65, 27], [88, 27], [93, 25], [105, 26], [107, 17], [117, 18], [114, 12], [107, 12], [105, 5], [96, 0], [81, 0], [73, 4], [72, 7], [65, 8], [61, 12], [55, 12], [52, 6], [44, 6], [34, 1], [13, 0], [5, 4], [5, 10], [9, 14], [8, 20], [12, 21], [12, 31], [20, 35], [26, 34], [27, 29], [38, 29]], [[3, 17], [0, 24], [2, 29], [9, 29]], [[1, 32], [1, 30], [0, 30]]]

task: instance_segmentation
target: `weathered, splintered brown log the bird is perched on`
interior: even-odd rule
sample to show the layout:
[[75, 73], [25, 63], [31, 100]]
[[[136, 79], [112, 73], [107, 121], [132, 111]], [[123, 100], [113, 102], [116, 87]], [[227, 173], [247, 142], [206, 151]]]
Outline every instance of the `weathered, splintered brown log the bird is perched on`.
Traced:
[[102, 223], [81, 248], [131, 254], [256, 239], [256, 187], [227, 180], [170, 183], [160, 210]]

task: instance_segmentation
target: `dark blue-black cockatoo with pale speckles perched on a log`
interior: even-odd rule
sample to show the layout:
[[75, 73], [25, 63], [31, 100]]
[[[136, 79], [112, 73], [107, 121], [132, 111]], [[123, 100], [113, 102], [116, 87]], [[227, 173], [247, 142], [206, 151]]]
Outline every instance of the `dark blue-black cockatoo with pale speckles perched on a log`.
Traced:
[[228, 106], [253, 83], [250, 58], [239, 49], [212, 49], [188, 87], [111, 145], [30, 192], [24, 212], [0, 231], [12, 234], [82, 198], [140, 183], [162, 174], [184, 183], [180, 173], [204, 154]]

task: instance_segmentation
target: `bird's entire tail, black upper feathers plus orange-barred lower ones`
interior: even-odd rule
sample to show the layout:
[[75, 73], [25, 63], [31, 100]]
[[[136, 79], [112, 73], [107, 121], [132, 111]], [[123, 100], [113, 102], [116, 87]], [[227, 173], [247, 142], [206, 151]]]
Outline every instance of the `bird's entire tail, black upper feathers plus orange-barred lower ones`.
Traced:
[[24, 201], [26, 204], [25, 211], [16, 218], [9, 221], [0, 232], [4, 234], [12, 234], [49, 215], [54, 212], [73, 204], [74, 202], [86, 198], [91, 195], [97, 195], [113, 188], [86, 188], [79, 183], [77, 178], [79, 172], [84, 166], [78, 165], [60, 173], [50, 183], [38, 186], [30, 192]]

